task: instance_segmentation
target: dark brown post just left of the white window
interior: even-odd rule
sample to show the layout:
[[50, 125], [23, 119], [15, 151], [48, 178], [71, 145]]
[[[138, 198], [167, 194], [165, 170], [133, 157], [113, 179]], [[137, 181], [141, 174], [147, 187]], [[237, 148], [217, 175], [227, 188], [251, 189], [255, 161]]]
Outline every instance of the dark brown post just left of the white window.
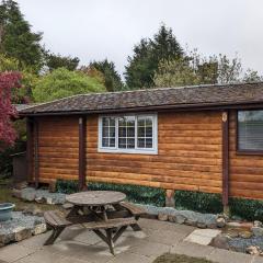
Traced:
[[85, 126], [87, 117], [79, 117], [79, 190], [85, 190]]

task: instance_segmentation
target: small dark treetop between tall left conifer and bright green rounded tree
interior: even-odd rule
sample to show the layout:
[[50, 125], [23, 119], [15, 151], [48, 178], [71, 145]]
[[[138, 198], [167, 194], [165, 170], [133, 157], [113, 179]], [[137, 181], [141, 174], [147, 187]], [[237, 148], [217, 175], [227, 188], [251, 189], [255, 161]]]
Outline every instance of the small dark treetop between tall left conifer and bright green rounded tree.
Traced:
[[76, 70], [79, 65], [78, 57], [61, 56], [60, 54], [46, 53], [45, 65], [49, 71], [57, 68], [67, 68], [68, 70]]

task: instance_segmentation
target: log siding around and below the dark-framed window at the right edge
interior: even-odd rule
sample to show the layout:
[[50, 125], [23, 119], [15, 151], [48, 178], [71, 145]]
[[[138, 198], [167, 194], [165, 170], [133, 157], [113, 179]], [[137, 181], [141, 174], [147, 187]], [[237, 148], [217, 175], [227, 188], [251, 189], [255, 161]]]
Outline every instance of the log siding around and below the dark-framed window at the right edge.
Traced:
[[236, 112], [230, 113], [230, 195], [263, 198], [263, 156], [236, 151]]

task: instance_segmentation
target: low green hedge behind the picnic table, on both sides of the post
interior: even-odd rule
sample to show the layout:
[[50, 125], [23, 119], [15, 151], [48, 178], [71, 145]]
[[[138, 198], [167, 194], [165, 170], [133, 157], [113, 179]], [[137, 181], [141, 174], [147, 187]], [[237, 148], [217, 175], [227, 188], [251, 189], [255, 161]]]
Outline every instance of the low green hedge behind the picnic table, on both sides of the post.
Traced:
[[[91, 191], [118, 191], [127, 195], [127, 199], [139, 204], [164, 206], [165, 191], [149, 186], [112, 183], [88, 183]], [[71, 194], [78, 192], [78, 181], [58, 180], [56, 190], [59, 193]]]

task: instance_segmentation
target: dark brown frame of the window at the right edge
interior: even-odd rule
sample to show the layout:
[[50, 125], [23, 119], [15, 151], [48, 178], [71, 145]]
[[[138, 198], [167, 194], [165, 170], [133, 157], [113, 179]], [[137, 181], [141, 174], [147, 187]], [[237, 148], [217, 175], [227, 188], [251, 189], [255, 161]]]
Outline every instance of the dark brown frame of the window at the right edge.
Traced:
[[239, 119], [238, 115], [239, 112], [248, 112], [248, 111], [263, 111], [263, 108], [240, 108], [236, 111], [236, 152], [239, 156], [263, 156], [263, 149], [262, 150], [250, 150], [250, 149], [240, 149], [239, 148]]

